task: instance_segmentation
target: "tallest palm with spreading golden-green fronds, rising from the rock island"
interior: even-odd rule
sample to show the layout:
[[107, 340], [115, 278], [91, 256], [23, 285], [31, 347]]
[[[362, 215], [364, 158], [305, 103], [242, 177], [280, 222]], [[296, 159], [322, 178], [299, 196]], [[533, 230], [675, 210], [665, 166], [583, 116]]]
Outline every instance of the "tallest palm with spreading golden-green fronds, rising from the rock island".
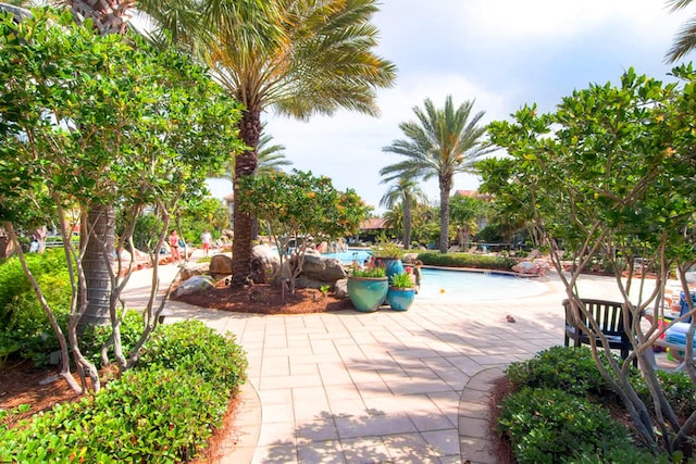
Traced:
[[247, 195], [238, 180], [257, 171], [261, 112], [274, 108], [306, 120], [344, 108], [376, 115], [375, 90], [395, 79], [395, 66], [372, 51], [377, 45], [377, 29], [370, 22], [375, 0], [268, 3], [275, 14], [240, 8], [226, 22], [237, 27], [212, 28], [198, 46], [217, 79], [246, 108], [239, 129], [249, 149], [235, 154], [233, 178], [234, 285], [250, 274], [252, 218], [238, 208]]

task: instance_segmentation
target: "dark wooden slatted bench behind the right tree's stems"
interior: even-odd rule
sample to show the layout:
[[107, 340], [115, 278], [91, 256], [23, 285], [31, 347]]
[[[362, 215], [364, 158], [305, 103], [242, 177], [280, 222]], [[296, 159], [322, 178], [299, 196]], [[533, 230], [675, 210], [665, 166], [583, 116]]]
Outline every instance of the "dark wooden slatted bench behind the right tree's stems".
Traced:
[[[624, 330], [623, 303], [589, 299], [582, 299], [581, 301], [585, 305], [587, 312], [593, 315], [594, 319], [599, 325], [599, 329], [609, 342], [609, 348], [612, 350], [620, 350], [622, 360], [629, 358], [629, 353], [633, 347], [629, 339], [629, 335]], [[574, 341], [575, 347], [580, 347], [583, 343], [591, 344], [589, 337], [579, 325], [576, 325], [573, 318], [573, 309], [570, 300], [563, 300], [563, 308], [566, 309], [566, 347], [570, 346], [571, 339]], [[591, 334], [595, 330], [582, 312], [580, 313], [579, 322], [580, 324], [583, 324]], [[626, 322], [629, 323], [629, 326], [633, 324], [633, 314], [631, 312], [627, 313]], [[598, 336], [596, 336], [596, 340], [597, 344], [601, 346], [601, 339]], [[637, 360], [634, 360], [634, 364], [636, 361]]]

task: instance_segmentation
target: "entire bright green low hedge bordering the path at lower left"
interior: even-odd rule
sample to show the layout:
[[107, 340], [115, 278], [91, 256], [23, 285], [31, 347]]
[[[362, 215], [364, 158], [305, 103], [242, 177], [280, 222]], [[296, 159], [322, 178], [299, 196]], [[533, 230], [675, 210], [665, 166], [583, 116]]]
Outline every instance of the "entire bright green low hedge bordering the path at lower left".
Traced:
[[245, 354], [199, 322], [162, 326], [154, 339], [138, 369], [99, 393], [0, 428], [0, 462], [178, 463], [196, 456], [246, 379]]

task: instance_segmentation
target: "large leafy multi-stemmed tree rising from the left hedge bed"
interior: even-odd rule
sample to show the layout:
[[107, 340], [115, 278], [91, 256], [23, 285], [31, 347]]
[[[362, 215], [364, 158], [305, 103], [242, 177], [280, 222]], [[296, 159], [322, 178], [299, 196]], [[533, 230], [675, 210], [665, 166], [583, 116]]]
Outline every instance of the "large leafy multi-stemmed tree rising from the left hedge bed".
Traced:
[[[2, 16], [0, 49], [0, 221], [16, 241], [16, 228], [58, 217], [73, 288], [67, 338], [80, 377], [86, 372], [98, 389], [96, 369], [77, 347], [77, 324], [87, 301], [100, 296], [87, 293], [87, 253], [71, 242], [69, 209], [80, 211], [82, 222], [89, 225], [88, 208], [122, 209], [126, 220], [116, 250], [122, 255], [126, 243], [133, 249], [140, 212], [156, 205], [163, 224], [161, 246], [179, 200], [203, 190], [201, 166], [220, 165], [220, 153], [239, 147], [233, 129], [239, 108], [190, 59], [154, 53], [135, 37], [98, 36], [89, 21], [77, 26], [70, 14], [35, 10], [33, 18], [18, 24]], [[119, 366], [128, 368], [157, 323], [152, 305], [158, 289], [153, 286], [146, 309], [142, 338], [126, 359], [117, 310], [129, 274], [121, 261], [112, 268], [101, 236], [92, 230], [87, 236], [99, 242], [98, 258], [107, 263], [107, 317]], [[62, 375], [79, 390], [62, 329], [26, 266], [25, 273], [61, 341]]]

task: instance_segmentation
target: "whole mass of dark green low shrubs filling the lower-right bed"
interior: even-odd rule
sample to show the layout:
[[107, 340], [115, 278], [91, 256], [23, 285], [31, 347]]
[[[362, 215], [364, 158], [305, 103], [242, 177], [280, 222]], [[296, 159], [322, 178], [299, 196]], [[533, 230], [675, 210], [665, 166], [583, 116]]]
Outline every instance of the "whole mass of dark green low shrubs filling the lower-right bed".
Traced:
[[[637, 372], [632, 375], [638, 378]], [[672, 462], [668, 453], [641, 446], [635, 429], [626, 427], [620, 397], [589, 349], [552, 347], [510, 364], [506, 376], [511, 393], [499, 404], [497, 427], [518, 462]], [[683, 373], [666, 374], [663, 384], [683, 380], [688, 383]], [[673, 399], [688, 401], [695, 390], [675, 391]], [[673, 457], [679, 461], [681, 455]]]

